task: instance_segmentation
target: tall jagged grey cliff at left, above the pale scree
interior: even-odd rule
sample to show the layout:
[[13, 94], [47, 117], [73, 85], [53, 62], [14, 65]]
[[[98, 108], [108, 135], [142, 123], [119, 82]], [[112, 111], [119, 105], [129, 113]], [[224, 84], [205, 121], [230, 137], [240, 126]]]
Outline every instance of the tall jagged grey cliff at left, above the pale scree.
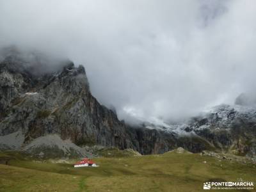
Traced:
[[38, 73], [18, 56], [0, 63], [0, 136], [21, 131], [25, 145], [58, 134], [77, 145], [134, 148], [124, 123], [90, 93], [84, 67], [62, 64]]

